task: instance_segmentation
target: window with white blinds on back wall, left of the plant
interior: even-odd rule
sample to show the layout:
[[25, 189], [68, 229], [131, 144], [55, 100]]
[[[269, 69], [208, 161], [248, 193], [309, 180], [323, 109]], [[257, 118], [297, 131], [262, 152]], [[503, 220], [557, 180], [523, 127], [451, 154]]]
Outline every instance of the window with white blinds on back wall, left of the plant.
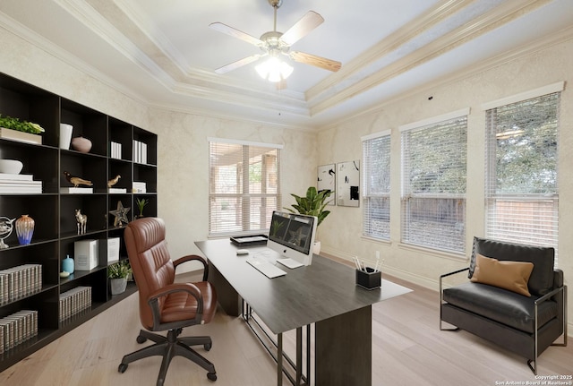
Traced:
[[280, 208], [280, 146], [210, 139], [209, 235], [265, 232]]

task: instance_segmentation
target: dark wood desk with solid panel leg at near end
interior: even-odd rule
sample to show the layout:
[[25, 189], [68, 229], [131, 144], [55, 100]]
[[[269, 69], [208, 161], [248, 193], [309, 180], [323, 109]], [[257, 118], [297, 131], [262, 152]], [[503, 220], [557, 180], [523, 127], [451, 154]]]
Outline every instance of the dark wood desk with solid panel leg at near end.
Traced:
[[[227, 313], [239, 314], [242, 297], [279, 341], [314, 323], [316, 386], [372, 385], [372, 305], [410, 289], [384, 279], [379, 289], [356, 287], [354, 269], [316, 254], [312, 265], [295, 270], [278, 264], [286, 276], [268, 279], [228, 239], [195, 244], [210, 262], [210, 281]], [[278, 257], [266, 246], [249, 251]]]

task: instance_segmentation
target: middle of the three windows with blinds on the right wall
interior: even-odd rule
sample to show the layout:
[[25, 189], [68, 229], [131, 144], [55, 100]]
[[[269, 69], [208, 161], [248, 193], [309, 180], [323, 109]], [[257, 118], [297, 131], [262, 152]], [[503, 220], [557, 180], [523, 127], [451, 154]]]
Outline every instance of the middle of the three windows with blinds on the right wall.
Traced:
[[408, 124], [402, 132], [402, 242], [466, 250], [469, 109]]

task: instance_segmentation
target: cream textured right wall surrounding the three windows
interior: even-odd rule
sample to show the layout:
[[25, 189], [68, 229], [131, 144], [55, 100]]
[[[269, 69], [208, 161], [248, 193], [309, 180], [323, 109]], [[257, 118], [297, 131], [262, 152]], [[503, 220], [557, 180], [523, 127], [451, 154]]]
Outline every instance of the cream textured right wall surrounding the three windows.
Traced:
[[[361, 159], [361, 136], [391, 130], [391, 235], [389, 243], [362, 237], [362, 209], [336, 207], [322, 224], [322, 250], [348, 259], [381, 251], [388, 273], [425, 287], [438, 288], [441, 273], [467, 266], [473, 236], [484, 235], [484, 102], [566, 81], [560, 104], [560, 244], [559, 267], [573, 279], [573, 39], [459, 81], [421, 90], [370, 114], [325, 128], [320, 133], [319, 165]], [[432, 96], [432, 100], [428, 98]], [[400, 244], [400, 136], [398, 127], [471, 107], [468, 117], [466, 256], [432, 253]], [[438, 299], [436, 299], [438, 302]], [[573, 296], [569, 296], [573, 314]]]

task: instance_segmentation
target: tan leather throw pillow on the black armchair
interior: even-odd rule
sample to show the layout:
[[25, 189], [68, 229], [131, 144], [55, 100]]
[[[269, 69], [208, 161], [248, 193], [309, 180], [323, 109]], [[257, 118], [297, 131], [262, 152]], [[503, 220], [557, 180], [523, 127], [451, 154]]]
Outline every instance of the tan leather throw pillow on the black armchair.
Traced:
[[477, 253], [474, 275], [470, 280], [531, 296], [527, 282], [532, 270], [534, 270], [533, 262], [499, 261]]

